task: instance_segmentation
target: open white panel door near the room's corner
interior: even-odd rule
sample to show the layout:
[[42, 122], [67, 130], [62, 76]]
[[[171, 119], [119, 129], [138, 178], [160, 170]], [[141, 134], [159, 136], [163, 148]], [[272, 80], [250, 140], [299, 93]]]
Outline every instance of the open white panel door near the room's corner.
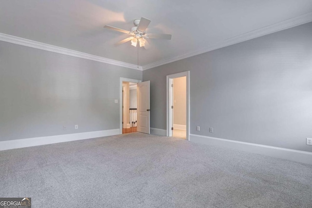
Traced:
[[137, 83], [137, 131], [150, 134], [150, 81]]

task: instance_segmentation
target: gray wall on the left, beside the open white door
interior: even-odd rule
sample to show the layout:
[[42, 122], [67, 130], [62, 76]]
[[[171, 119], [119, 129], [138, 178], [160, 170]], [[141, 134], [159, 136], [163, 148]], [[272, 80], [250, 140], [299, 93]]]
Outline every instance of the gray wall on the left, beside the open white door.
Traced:
[[118, 129], [119, 77], [142, 72], [0, 41], [0, 140]]

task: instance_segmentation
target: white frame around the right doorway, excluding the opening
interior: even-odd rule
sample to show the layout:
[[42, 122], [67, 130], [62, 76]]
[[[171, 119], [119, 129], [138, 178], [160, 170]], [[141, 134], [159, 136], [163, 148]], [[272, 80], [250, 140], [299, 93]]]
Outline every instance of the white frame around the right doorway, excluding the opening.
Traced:
[[167, 137], [172, 137], [171, 127], [173, 126], [171, 106], [173, 105], [171, 87], [172, 80], [186, 76], [186, 140], [190, 140], [190, 71], [167, 75]]

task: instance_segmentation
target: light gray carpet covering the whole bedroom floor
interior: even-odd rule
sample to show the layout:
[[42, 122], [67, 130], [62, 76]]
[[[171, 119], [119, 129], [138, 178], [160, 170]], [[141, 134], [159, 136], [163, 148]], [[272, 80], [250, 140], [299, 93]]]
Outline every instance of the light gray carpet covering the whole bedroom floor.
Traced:
[[141, 133], [0, 151], [32, 208], [311, 208], [312, 165]]

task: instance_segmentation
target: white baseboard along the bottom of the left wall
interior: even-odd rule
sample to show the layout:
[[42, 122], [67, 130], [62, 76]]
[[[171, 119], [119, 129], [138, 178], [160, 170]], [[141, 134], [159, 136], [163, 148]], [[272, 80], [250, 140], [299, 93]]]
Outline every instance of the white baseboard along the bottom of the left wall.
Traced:
[[44, 144], [54, 144], [59, 142], [66, 141], [75, 141], [81, 139], [92, 139], [98, 137], [106, 137], [119, 134], [119, 129], [110, 129], [103, 131], [92, 131], [92, 132], [83, 132], [76, 134], [64, 134], [64, 135], [56, 135], [56, 136], [48, 136], [48, 137], [36, 137], [36, 138], [28, 138], [28, 139], [15, 139], [15, 140], [7, 140], [0, 141], [0, 150], [10, 150], [17, 149], [23, 147], [32, 147], [39, 146]]

